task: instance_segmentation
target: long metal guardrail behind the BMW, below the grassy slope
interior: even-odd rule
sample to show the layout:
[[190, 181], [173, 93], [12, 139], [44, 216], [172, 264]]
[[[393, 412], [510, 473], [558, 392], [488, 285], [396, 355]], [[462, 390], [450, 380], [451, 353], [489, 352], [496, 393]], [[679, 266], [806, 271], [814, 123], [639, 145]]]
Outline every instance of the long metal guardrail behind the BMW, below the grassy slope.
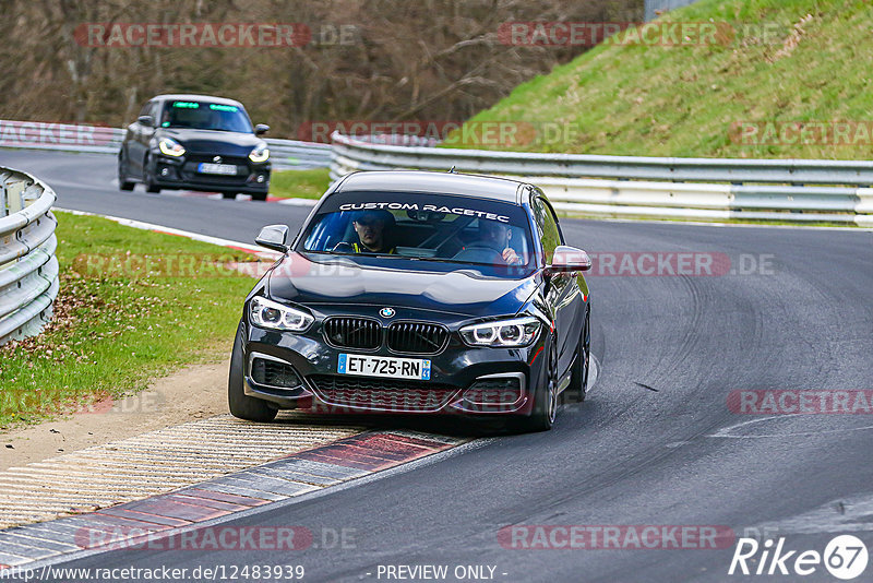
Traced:
[[[611, 217], [873, 227], [873, 162], [656, 158], [452, 150], [334, 133], [331, 179], [419, 168], [522, 177], [563, 211]], [[811, 186], [812, 185], [812, 186]]]

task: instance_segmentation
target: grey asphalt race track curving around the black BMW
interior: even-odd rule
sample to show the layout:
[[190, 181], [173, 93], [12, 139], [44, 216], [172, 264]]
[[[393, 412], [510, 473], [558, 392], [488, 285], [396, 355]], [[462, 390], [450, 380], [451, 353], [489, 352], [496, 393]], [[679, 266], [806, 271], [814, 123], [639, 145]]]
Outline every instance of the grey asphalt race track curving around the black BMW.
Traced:
[[[141, 186], [120, 192], [109, 156], [1, 151], [0, 165], [44, 179], [60, 207], [237, 241], [251, 242], [270, 223], [296, 230], [309, 211]], [[731, 391], [873, 390], [873, 234], [562, 225], [571, 245], [614, 253], [617, 266], [626, 251], [666, 262], [717, 253], [732, 273], [591, 275], [600, 374], [589, 401], [564, 407], [550, 432], [492, 437], [229, 523], [307, 526], [318, 547], [323, 528], [346, 528], [351, 548], [124, 549], [67, 566], [302, 564], [306, 581], [384, 581], [380, 566], [417, 564], [445, 564], [450, 574], [491, 566], [498, 581], [743, 579], [728, 575], [733, 540], [716, 550], [504, 548], [498, 533], [507, 525], [721, 525], [818, 552], [837, 534], [854, 534], [873, 550], [873, 416], [741, 415], [728, 404]], [[820, 566], [804, 580], [834, 578]]]

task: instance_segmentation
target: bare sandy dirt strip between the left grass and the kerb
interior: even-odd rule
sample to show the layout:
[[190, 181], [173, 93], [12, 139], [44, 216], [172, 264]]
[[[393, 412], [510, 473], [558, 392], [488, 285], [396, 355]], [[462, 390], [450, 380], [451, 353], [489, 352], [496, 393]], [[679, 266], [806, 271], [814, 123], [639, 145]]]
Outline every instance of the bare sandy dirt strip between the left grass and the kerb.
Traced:
[[[0, 435], [0, 472], [146, 431], [227, 413], [229, 357], [187, 367], [121, 401]], [[10, 448], [11, 445], [11, 448]]]

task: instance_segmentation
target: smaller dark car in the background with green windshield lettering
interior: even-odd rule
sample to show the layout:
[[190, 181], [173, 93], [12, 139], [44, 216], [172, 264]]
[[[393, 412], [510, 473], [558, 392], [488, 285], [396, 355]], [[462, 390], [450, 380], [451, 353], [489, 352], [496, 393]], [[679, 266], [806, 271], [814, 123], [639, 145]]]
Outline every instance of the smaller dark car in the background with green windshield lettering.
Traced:
[[206, 95], [158, 95], [128, 126], [118, 153], [118, 185], [148, 192], [187, 189], [238, 192], [266, 200], [270, 150], [242, 104]]

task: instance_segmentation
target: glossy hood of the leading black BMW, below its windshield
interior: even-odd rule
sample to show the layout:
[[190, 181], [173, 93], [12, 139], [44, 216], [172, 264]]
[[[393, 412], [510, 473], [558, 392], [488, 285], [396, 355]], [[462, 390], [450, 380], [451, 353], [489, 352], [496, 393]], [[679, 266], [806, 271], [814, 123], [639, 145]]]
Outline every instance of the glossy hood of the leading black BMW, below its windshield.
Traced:
[[[473, 318], [516, 313], [534, 294], [533, 275], [493, 277], [475, 266], [424, 271], [420, 262], [359, 265], [347, 258], [313, 261], [289, 253], [271, 272], [268, 294], [302, 305], [368, 305], [451, 312]], [[403, 265], [399, 265], [403, 263]], [[409, 269], [409, 263], [417, 263]], [[406, 269], [404, 269], [406, 267]]]

